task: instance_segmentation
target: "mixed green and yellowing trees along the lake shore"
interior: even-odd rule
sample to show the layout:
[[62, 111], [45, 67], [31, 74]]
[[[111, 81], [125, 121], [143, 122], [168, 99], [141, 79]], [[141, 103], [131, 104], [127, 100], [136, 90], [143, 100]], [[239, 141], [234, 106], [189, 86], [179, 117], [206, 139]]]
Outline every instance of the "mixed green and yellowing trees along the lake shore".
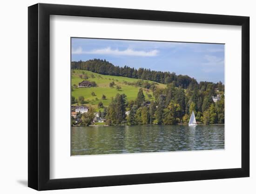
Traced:
[[[153, 96], [155, 100], [150, 103], [145, 100], [143, 89], [140, 88], [135, 100], [127, 100], [125, 94], [116, 94], [108, 107], [100, 116], [106, 119], [107, 125], [175, 125], [177, 123], [188, 123], [192, 111], [195, 112], [196, 121], [204, 124], [224, 123], [224, 94], [216, 103], [212, 96], [216, 95], [213, 84], [193, 90], [175, 87], [168, 84], [166, 88], [155, 88]], [[129, 114], [126, 115], [126, 111]], [[89, 113], [88, 113], [89, 115]], [[85, 114], [83, 119], [92, 122], [93, 114]], [[91, 118], [91, 120], [88, 120]]]

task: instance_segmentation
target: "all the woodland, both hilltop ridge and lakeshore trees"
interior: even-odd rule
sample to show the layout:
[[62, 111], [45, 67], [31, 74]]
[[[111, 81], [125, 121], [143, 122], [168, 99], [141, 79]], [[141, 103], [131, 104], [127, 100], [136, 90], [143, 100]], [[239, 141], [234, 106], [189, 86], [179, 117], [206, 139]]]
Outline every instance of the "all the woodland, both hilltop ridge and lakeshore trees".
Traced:
[[[106, 119], [106, 125], [175, 125], [188, 123], [192, 111], [196, 121], [203, 124], [224, 123], [224, 85], [201, 81], [197, 82], [188, 75], [151, 71], [144, 68], [114, 66], [106, 60], [72, 61], [72, 69], [87, 70], [103, 75], [115, 75], [139, 79], [135, 83], [140, 87], [135, 100], [127, 100], [126, 94], [116, 94], [111, 98], [108, 107], [99, 112]], [[147, 81], [166, 84], [166, 87], [154, 87]], [[146, 83], [146, 84], [145, 84]], [[153, 91], [151, 100], [145, 99], [143, 88]], [[213, 96], [220, 95], [220, 100], [213, 101]], [[129, 111], [129, 114], [126, 112]], [[94, 108], [81, 114], [83, 125], [91, 125], [94, 119]]]

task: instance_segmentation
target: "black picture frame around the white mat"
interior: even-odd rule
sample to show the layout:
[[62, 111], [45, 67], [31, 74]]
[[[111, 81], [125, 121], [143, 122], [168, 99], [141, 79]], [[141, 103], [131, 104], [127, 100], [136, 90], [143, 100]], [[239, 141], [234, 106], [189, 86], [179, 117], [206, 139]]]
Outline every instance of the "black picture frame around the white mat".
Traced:
[[[50, 179], [50, 15], [242, 26], [242, 167]], [[110, 7], [28, 7], [28, 187], [36, 190], [249, 177], [249, 17]]]

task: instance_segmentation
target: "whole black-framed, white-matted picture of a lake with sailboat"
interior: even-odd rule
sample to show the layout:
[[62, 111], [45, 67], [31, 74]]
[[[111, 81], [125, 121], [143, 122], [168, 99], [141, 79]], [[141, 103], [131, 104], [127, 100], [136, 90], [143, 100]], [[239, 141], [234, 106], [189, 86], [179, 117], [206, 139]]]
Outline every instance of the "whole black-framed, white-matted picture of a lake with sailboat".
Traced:
[[249, 17], [28, 7], [28, 187], [249, 176]]

